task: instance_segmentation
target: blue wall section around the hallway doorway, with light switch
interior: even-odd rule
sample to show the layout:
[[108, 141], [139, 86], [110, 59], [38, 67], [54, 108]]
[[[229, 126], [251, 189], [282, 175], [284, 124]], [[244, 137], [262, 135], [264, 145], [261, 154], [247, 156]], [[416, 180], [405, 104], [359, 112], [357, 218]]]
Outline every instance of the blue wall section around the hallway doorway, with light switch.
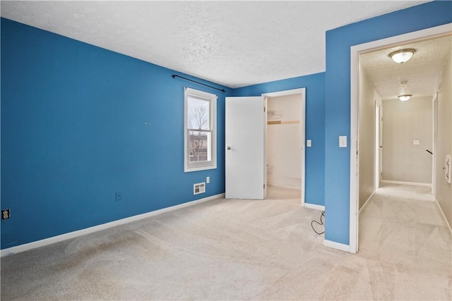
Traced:
[[452, 2], [433, 1], [326, 32], [325, 238], [349, 244], [350, 47], [452, 22]]

